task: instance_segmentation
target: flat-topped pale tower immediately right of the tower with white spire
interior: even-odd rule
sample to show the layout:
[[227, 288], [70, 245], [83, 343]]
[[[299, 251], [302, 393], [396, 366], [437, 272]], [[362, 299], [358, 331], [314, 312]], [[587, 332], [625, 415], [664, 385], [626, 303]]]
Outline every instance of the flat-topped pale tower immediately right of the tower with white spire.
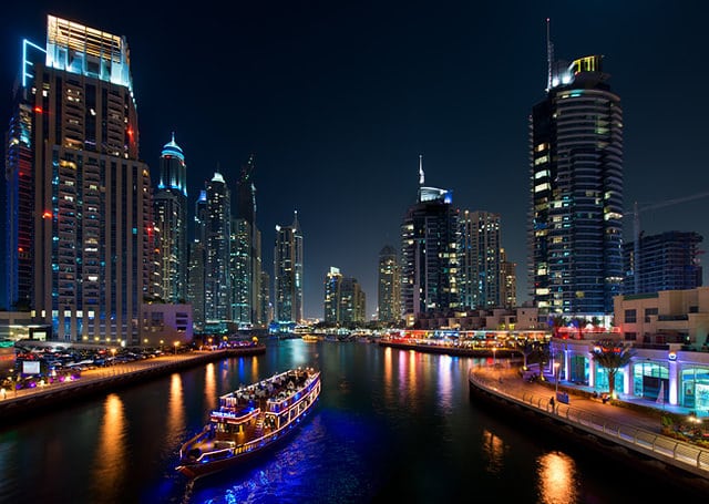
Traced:
[[502, 306], [500, 214], [463, 212], [459, 217], [458, 257], [461, 306]]

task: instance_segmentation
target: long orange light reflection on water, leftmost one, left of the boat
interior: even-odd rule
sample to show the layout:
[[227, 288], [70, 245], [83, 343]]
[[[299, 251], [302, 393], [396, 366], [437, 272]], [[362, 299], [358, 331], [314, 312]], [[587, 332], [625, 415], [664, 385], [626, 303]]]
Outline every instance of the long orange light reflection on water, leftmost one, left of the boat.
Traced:
[[96, 495], [117, 496], [125, 476], [126, 422], [123, 401], [112, 393], [104, 402], [103, 422], [99, 432], [99, 443], [93, 471], [88, 481], [93, 482]]

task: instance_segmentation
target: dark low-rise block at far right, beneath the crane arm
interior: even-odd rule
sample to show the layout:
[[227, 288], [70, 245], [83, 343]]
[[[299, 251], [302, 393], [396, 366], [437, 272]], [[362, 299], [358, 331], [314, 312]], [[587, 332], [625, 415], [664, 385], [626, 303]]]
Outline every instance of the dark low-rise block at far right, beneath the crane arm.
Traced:
[[686, 290], [701, 287], [698, 233], [666, 232], [640, 235], [639, 241], [623, 245], [624, 294]]

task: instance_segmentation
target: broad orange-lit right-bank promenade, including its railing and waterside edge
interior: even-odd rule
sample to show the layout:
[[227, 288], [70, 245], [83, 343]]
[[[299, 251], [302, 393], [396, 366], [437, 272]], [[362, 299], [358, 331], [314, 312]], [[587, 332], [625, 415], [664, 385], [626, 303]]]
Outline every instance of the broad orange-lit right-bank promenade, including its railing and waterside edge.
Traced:
[[[634, 409], [620, 403], [604, 403], [571, 385], [558, 389], [567, 394], [564, 402], [552, 401], [556, 384], [527, 382], [516, 366], [473, 367], [469, 371], [469, 382], [471, 398], [487, 399], [510, 411], [546, 422], [559, 435], [571, 434], [586, 444], [595, 440], [589, 445], [596, 445], [602, 452], [608, 453], [607, 448], [615, 445], [616, 453], [625, 452], [630, 459], [650, 460], [659, 462], [665, 470], [679, 470], [687, 476], [688, 484], [709, 491], [709, 450], [664, 435], [664, 412], [659, 408]], [[672, 413], [684, 413], [679, 408], [674, 410]]]

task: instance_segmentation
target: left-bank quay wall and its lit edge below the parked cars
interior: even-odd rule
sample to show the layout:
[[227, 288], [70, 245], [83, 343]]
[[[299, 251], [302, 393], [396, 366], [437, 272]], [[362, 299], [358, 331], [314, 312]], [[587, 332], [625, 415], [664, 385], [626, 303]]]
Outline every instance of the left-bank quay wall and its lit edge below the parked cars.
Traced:
[[0, 400], [0, 424], [6, 426], [12, 422], [29, 419], [30, 415], [53, 412], [55, 408], [64, 407], [70, 402], [73, 403], [99, 394], [114, 392], [125, 387], [144, 383], [157, 377], [195, 368], [219, 359], [256, 356], [265, 352], [266, 347], [264, 344], [195, 352], [188, 356], [182, 354], [178, 359], [164, 362], [151, 360], [150, 366], [143, 366], [140, 369], [131, 368], [127, 370], [125, 368], [122, 369], [124, 364], [116, 364], [113, 367], [115, 374], [90, 378], [89, 373], [85, 373], [85, 378], [82, 377], [74, 382], [33, 389], [31, 393], [23, 393], [19, 397], [13, 397], [12, 392], [7, 392], [6, 399]]

